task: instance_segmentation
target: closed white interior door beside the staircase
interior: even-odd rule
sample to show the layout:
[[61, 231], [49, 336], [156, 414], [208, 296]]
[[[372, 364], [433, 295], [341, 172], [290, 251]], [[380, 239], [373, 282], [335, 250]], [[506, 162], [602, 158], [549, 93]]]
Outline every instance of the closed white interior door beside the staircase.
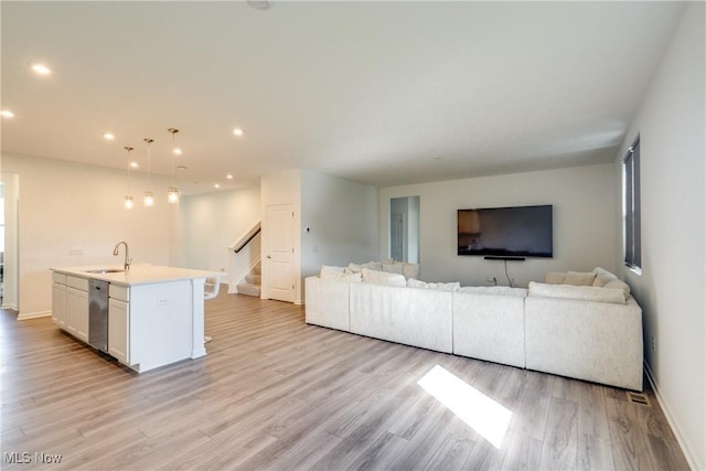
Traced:
[[295, 302], [295, 206], [267, 206], [267, 298]]

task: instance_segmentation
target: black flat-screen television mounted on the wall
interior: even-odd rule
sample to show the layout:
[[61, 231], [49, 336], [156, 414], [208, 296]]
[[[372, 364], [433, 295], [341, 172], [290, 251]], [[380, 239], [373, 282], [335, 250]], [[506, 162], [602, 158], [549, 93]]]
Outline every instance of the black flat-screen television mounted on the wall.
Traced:
[[553, 257], [552, 205], [458, 210], [458, 255]]

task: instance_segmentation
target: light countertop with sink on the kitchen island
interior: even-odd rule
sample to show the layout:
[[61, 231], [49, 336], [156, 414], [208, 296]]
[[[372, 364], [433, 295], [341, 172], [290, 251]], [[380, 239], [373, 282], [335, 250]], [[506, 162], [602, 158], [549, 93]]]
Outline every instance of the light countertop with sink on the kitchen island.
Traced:
[[122, 265], [94, 265], [84, 267], [52, 268], [57, 274], [69, 275], [79, 278], [89, 278], [108, 281], [121, 286], [152, 285], [167, 281], [190, 280], [196, 278], [223, 277], [224, 272], [192, 270], [189, 268], [164, 267], [160, 265], [133, 264], [128, 271], [97, 274], [89, 270], [98, 269], [122, 270]]

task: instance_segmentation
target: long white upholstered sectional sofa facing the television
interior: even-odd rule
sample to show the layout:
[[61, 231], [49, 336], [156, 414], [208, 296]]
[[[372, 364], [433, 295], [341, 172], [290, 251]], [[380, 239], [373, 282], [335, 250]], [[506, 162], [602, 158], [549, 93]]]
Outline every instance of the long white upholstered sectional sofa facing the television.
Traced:
[[642, 310], [621, 288], [421, 288], [365, 271], [307, 278], [307, 323], [642, 390]]

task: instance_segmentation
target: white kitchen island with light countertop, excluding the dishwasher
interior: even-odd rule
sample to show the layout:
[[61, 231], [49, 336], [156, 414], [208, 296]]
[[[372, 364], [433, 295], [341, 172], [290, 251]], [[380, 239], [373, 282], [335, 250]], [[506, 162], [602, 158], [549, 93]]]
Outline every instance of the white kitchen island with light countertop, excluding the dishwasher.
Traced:
[[125, 271], [115, 266], [52, 270], [54, 323], [86, 343], [95, 325], [89, 282], [108, 283], [106, 352], [136, 372], [206, 354], [204, 282], [223, 274], [138, 264]]

